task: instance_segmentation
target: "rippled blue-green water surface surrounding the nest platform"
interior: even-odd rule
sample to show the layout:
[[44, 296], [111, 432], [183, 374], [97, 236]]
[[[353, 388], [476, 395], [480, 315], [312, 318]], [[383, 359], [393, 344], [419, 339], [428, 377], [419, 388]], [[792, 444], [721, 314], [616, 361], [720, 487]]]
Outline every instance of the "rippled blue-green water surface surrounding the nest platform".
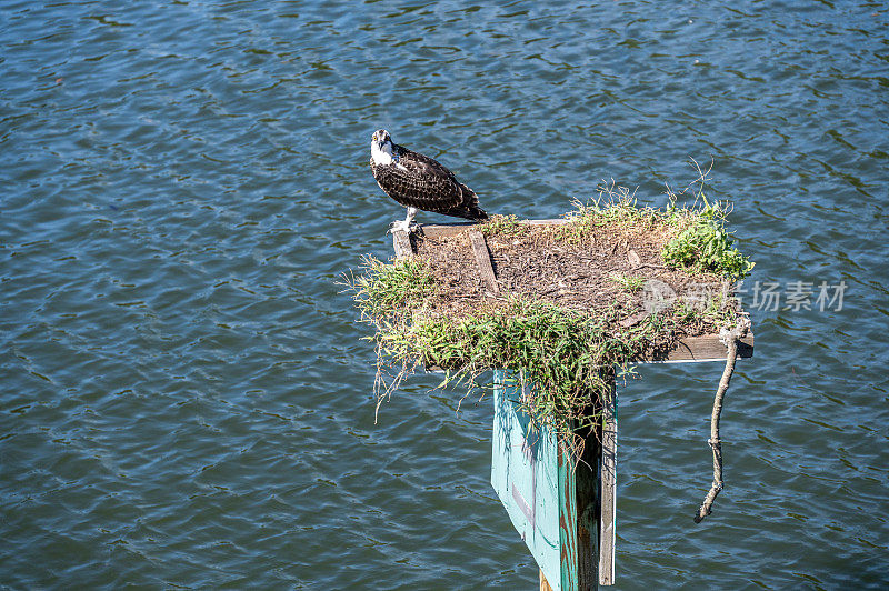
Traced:
[[662, 206], [712, 157], [757, 261], [727, 488], [695, 525], [721, 367], [640, 369], [617, 588], [889, 585], [888, 24], [860, 1], [3, 2], [0, 585], [536, 585], [490, 401], [417, 375], [374, 424], [338, 281], [403, 214], [367, 166], [380, 127], [526, 218], [602, 178]]

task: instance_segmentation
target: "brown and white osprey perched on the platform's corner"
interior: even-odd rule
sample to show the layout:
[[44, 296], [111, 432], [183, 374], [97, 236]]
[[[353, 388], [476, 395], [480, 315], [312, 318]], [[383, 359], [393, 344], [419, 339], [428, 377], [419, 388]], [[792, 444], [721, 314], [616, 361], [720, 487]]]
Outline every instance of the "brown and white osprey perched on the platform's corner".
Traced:
[[436, 160], [392, 143], [384, 129], [370, 140], [370, 169], [386, 194], [408, 208], [404, 221], [392, 223], [390, 232], [410, 232], [417, 211], [433, 211], [468, 220], [487, 220], [472, 189]]

